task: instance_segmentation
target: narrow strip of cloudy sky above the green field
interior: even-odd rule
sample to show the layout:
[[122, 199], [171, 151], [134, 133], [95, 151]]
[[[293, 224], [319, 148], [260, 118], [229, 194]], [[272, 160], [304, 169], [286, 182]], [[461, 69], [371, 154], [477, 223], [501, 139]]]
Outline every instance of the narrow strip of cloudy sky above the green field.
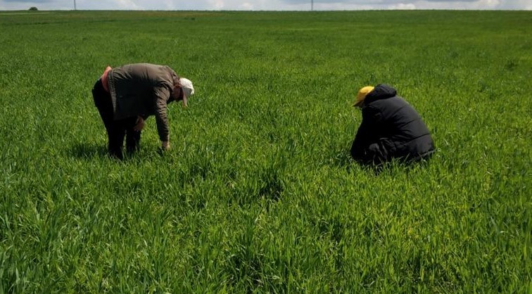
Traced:
[[[310, 11], [312, 0], [0, 0], [0, 11], [199, 10]], [[373, 9], [532, 10], [532, 0], [313, 0], [315, 11]]]

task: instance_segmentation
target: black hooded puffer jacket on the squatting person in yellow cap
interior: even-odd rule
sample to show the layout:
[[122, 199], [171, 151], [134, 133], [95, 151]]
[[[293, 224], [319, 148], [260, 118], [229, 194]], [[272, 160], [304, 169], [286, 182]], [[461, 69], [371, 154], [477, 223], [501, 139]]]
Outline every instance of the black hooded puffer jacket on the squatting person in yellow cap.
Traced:
[[393, 87], [376, 85], [362, 106], [362, 123], [351, 146], [353, 159], [366, 164], [393, 158], [410, 161], [433, 151], [429, 129], [416, 110]]

